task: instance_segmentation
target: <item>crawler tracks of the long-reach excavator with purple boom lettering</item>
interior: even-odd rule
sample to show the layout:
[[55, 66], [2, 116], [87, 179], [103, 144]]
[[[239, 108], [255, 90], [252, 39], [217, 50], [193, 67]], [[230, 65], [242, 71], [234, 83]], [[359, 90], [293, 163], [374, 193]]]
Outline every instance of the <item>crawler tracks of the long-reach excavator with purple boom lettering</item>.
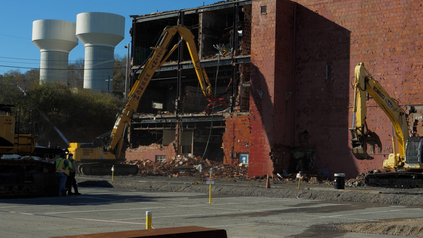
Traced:
[[104, 176], [112, 175], [112, 166], [115, 166], [115, 176], [136, 175], [138, 166], [124, 163], [82, 163], [78, 166], [78, 172], [84, 175]]

